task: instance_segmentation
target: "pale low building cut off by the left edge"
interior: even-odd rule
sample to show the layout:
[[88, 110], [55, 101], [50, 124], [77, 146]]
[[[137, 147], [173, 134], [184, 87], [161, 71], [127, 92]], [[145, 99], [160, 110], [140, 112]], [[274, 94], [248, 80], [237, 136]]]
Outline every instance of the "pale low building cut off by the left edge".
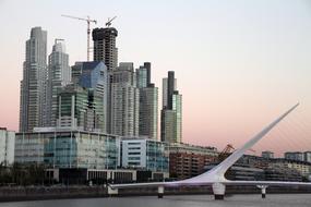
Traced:
[[0, 127], [0, 165], [11, 166], [14, 162], [15, 132]]

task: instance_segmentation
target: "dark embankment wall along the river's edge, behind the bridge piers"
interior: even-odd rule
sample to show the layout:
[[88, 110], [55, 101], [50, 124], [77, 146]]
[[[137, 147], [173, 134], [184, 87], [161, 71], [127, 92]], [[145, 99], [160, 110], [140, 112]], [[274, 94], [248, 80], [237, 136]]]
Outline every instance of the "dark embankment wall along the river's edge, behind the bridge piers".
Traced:
[[[311, 188], [284, 188], [268, 187], [267, 194], [272, 193], [311, 193]], [[166, 195], [186, 195], [186, 194], [212, 194], [211, 186], [201, 187], [179, 187], [165, 188]], [[254, 186], [228, 186], [226, 190], [228, 196], [232, 194], [261, 194]], [[131, 188], [119, 190], [118, 196], [148, 196], [157, 195], [157, 188]], [[37, 199], [63, 199], [63, 198], [87, 198], [87, 197], [107, 197], [108, 191], [103, 186], [14, 186], [0, 187], [0, 202], [17, 200], [37, 200]]]

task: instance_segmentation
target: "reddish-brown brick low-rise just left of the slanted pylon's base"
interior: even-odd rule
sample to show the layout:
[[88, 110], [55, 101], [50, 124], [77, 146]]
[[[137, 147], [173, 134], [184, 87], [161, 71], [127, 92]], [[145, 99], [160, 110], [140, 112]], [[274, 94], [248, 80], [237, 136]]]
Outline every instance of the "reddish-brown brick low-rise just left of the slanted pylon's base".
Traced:
[[215, 147], [203, 147], [183, 143], [169, 145], [169, 174], [174, 179], [188, 179], [206, 171], [218, 156]]

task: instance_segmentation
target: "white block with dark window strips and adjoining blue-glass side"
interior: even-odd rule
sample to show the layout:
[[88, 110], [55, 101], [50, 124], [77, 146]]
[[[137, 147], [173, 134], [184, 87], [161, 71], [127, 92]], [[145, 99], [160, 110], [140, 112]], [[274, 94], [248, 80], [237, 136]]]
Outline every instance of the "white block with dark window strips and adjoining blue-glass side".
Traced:
[[[149, 173], [152, 180], [169, 176], [169, 148], [167, 143], [143, 137], [122, 137], [122, 168], [139, 170], [137, 176]], [[139, 178], [142, 181], [142, 178]]]

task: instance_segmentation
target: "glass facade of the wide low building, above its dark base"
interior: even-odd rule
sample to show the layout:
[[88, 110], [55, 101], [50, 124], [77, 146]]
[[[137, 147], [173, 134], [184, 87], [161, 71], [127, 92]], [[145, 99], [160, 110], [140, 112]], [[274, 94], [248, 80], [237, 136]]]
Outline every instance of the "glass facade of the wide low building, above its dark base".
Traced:
[[118, 137], [84, 131], [19, 133], [15, 161], [51, 168], [117, 169]]

